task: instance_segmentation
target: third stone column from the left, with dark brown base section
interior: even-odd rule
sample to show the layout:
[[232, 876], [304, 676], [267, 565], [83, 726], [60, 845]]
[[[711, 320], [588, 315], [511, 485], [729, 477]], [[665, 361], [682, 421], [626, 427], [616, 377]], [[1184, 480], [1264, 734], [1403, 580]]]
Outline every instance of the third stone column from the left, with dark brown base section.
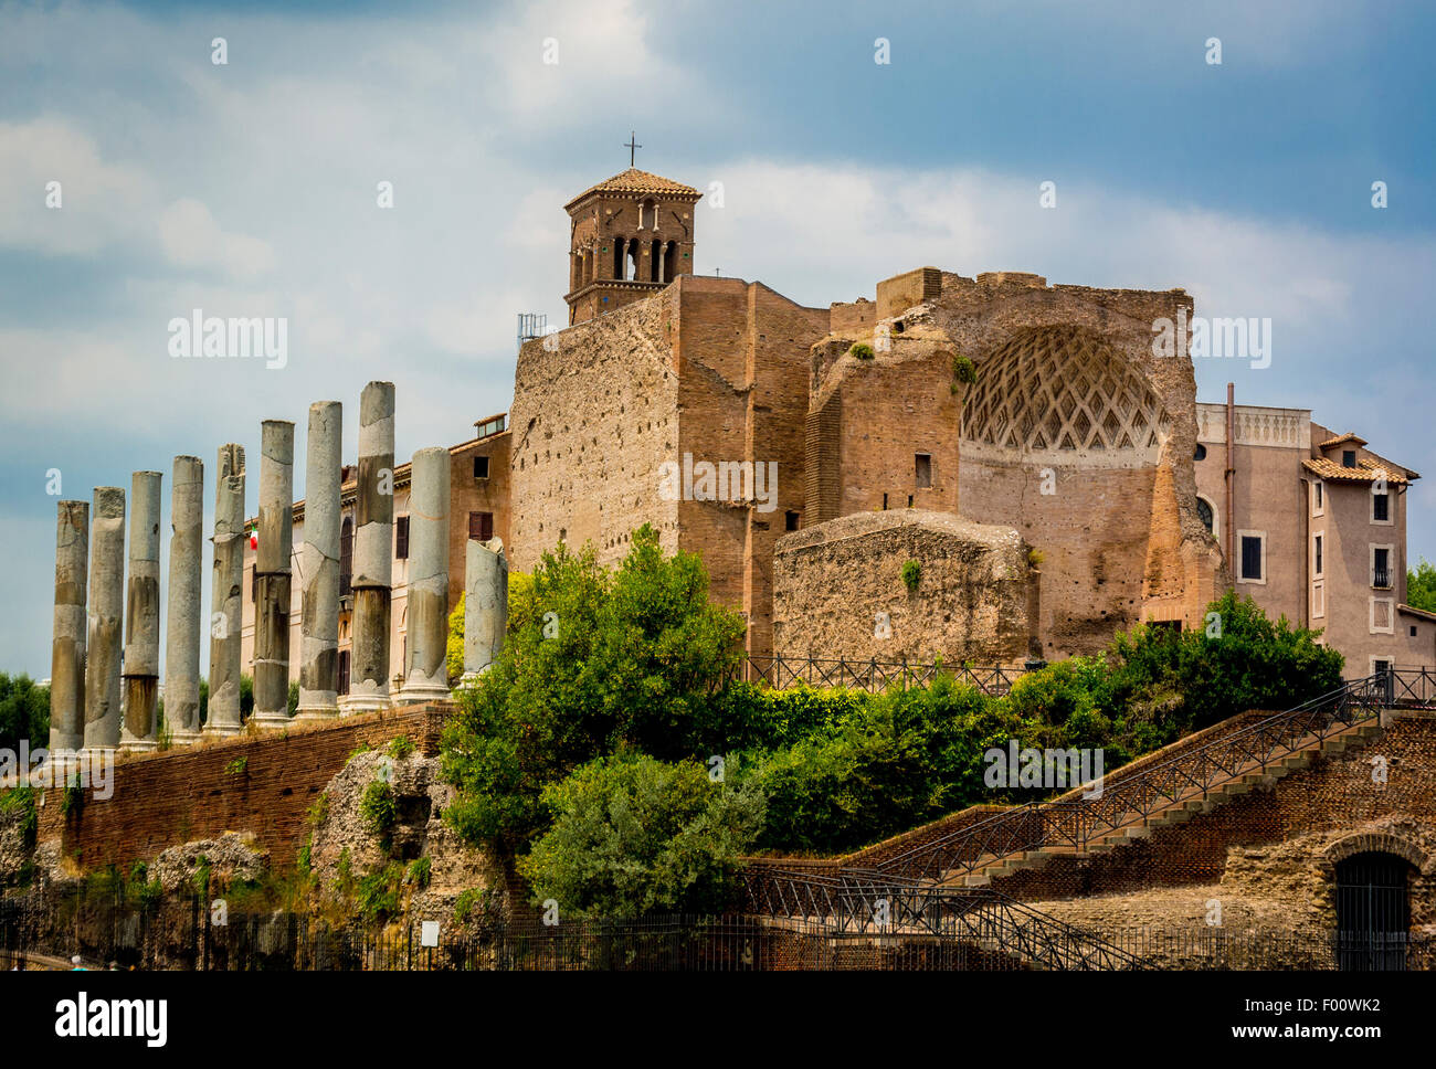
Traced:
[[129, 578], [125, 588], [125, 716], [119, 745], [152, 750], [159, 740], [159, 472], [129, 482]]

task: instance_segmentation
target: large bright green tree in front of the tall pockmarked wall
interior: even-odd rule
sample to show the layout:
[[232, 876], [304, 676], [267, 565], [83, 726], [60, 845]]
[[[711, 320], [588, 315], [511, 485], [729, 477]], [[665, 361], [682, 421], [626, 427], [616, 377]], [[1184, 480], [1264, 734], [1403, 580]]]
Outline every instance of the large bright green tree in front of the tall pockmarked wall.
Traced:
[[445, 732], [445, 773], [458, 786], [449, 821], [513, 849], [547, 828], [543, 788], [579, 765], [622, 745], [691, 756], [744, 627], [708, 601], [701, 561], [663, 557], [648, 525], [613, 573], [592, 545], [560, 544], [531, 578], [520, 597], [511, 591], [504, 650], [460, 694]]

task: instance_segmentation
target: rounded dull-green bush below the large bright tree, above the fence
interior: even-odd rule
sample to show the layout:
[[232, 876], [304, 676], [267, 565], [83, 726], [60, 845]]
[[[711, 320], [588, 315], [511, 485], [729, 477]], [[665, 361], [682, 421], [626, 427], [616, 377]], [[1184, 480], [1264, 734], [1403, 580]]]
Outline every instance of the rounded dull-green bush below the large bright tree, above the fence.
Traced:
[[599, 758], [543, 792], [553, 827], [520, 860], [534, 900], [563, 913], [636, 917], [722, 910], [763, 827], [763, 793], [709, 779], [696, 760]]

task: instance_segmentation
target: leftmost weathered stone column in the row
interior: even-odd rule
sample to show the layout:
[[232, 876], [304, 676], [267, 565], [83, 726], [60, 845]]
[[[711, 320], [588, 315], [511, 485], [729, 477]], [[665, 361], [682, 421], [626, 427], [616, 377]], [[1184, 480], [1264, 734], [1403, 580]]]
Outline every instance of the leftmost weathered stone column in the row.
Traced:
[[56, 768], [85, 745], [85, 587], [89, 502], [62, 501], [55, 532], [55, 639], [50, 643], [50, 756]]

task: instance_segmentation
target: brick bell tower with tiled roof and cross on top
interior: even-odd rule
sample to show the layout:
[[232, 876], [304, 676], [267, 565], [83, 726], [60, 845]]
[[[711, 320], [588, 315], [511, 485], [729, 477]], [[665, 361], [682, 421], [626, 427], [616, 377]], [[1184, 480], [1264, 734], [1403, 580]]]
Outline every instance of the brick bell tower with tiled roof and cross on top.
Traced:
[[569, 324], [663, 290], [694, 271], [694, 217], [702, 194], [632, 166], [564, 205], [570, 220]]

